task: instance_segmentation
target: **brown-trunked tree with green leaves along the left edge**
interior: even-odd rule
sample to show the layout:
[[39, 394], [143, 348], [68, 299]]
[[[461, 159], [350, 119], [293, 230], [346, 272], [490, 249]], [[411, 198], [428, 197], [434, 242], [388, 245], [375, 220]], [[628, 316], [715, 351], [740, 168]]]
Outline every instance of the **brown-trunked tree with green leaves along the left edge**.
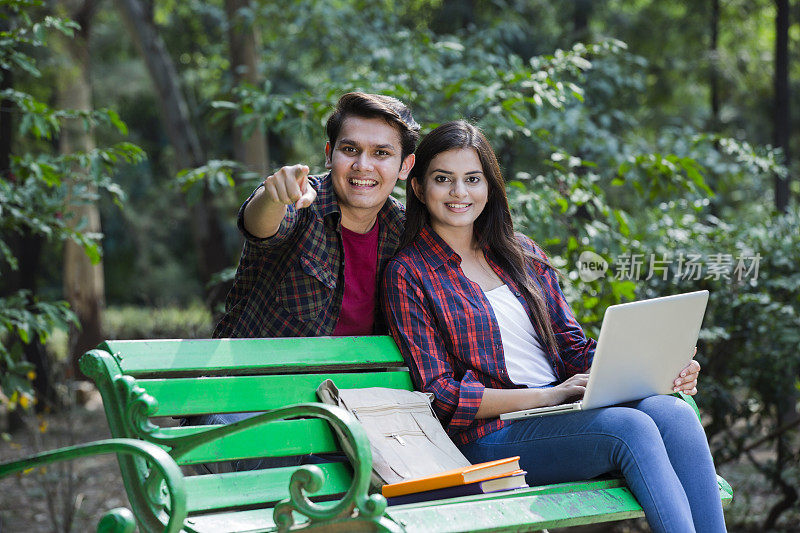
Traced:
[[[73, 345], [100, 339], [102, 235], [95, 202], [103, 191], [120, 205], [124, 193], [113, 174], [121, 163], [144, 158], [129, 142], [95, 146], [95, 128], [123, 135], [127, 128], [115, 111], [92, 106], [87, 34], [37, 7], [4, 2], [0, 20], [0, 400], [12, 412], [17, 405], [58, 403], [44, 346], [57, 328], [70, 331]], [[80, 18], [88, 24], [91, 14]], [[49, 73], [38, 56], [48, 44], [63, 61]], [[42, 90], [48, 85], [49, 94]], [[57, 283], [61, 265], [67, 301], [42, 282]]]

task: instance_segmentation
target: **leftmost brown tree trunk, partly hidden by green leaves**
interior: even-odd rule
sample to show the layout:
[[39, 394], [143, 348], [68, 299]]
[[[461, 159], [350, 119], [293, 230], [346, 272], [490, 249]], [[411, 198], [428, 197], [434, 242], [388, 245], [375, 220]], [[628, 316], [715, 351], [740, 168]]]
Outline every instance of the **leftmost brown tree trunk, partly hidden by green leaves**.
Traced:
[[[96, 3], [94, 0], [75, 2], [61, 0], [73, 20], [80, 24], [74, 38], [60, 39], [64, 64], [58, 70], [58, 104], [61, 109], [90, 111], [92, 86], [89, 72], [89, 31]], [[95, 148], [94, 132], [83, 127], [82, 121], [65, 123], [59, 138], [62, 154], [90, 151]], [[72, 170], [71, 188], [84, 181], [83, 169]], [[65, 211], [67, 223], [83, 232], [100, 233], [100, 212], [96, 204], [72, 204], [68, 195]], [[105, 307], [103, 263], [93, 265], [83, 248], [73, 241], [64, 244], [64, 296], [78, 315], [80, 328], [70, 328], [69, 356], [73, 377], [80, 376], [78, 359], [84, 352], [103, 340], [102, 317]]]

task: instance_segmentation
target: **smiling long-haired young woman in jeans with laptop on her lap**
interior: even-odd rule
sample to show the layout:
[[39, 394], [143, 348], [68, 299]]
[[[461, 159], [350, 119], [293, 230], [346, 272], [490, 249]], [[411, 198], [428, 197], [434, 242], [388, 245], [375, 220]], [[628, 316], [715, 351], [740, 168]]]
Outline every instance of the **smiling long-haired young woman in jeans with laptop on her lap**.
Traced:
[[[384, 275], [384, 308], [415, 385], [473, 463], [519, 455], [528, 483], [621, 471], [654, 531], [725, 531], [703, 427], [691, 407], [653, 396], [514, 422], [501, 413], [578, 398], [586, 338], [544, 252], [515, 235], [497, 159], [464, 121], [432, 131], [409, 176], [403, 245]], [[697, 362], [675, 390], [697, 392]]]

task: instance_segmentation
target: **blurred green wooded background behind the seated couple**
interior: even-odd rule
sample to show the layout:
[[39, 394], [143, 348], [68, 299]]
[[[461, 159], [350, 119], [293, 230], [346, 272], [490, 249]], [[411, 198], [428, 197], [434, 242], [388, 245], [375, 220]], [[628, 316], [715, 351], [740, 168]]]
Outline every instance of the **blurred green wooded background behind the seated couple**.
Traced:
[[[517, 227], [548, 250], [590, 332], [608, 305], [711, 291], [699, 403], [713, 451], [723, 468], [746, 465], [773, 487], [769, 505], [733, 520], [758, 530], [797, 519], [800, 3], [3, 6], [4, 32], [39, 24], [62, 35], [45, 44], [3, 34], [12, 44], [0, 63], [0, 295], [28, 313], [0, 322], [4, 370], [23, 365], [7, 375], [26, 381], [23, 361], [74, 358], [98, 335], [209, 335], [241, 250], [242, 200], [269, 169], [304, 162], [322, 172], [324, 120], [338, 96], [382, 92], [411, 104], [424, 131], [460, 117], [484, 129]], [[70, 156], [119, 142], [132, 151], [116, 163], [132, 164]], [[31, 170], [42, 158], [63, 173]], [[65, 166], [76, 161], [82, 171]], [[122, 209], [110, 201], [120, 193]], [[591, 281], [578, 264], [589, 251], [611, 267]], [[686, 275], [691, 258], [705, 268], [699, 276]], [[634, 259], [635, 278], [622, 268]], [[52, 303], [61, 300], [74, 315]], [[26, 342], [75, 316], [83, 327], [66, 328], [67, 348]], [[16, 389], [2, 386], [11, 398]]]

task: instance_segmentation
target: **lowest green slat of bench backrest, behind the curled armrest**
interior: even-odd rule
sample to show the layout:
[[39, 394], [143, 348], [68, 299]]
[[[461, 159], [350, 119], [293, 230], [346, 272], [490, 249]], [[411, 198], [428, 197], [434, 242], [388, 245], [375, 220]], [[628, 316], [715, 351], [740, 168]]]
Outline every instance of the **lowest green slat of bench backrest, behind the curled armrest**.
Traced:
[[[325, 484], [314, 496], [345, 492], [350, 487], [350, 467], [343, 463], [322, 463]], [[287, 497], [289, 479], [297, 467], [209, 474], [186, 478], [190, 513], [272, 503]]]

